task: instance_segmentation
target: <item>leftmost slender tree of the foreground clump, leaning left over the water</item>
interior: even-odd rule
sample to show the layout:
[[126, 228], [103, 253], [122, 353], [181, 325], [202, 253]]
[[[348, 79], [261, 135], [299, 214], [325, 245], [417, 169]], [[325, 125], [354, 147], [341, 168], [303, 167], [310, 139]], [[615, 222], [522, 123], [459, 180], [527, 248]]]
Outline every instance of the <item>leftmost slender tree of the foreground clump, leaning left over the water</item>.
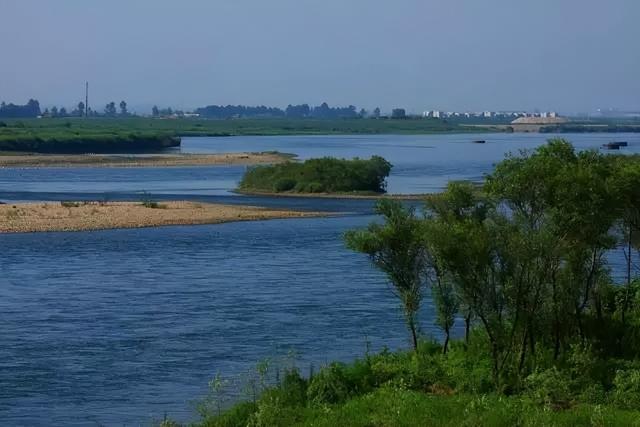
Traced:
[[400, 299], [414, 350], [418, 348], [418, 310], [425, 287], [427, 254], [422, 242], [422, 224], [414, 209], [395, 200], [381, 200], [376, 213], [383, 225], [373, 223], [365, 230], [345, 234], [347, 247], [369, 255], [388, 277], [393, 294]]

